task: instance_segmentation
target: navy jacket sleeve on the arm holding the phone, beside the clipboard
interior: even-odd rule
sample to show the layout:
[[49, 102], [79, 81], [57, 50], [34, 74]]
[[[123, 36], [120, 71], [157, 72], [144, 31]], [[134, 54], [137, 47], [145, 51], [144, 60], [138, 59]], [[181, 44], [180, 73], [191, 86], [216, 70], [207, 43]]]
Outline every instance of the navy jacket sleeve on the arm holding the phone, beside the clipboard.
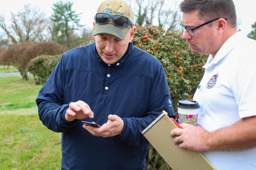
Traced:
[[124, 127], [122, 133], [116, 136], [117, 140], [134, 146], [147, 144], [148, 141], [141, 133], [141, 130], [151, 123], [159, 113], [164, 110], [168, 113], [169, 117], [175, 118], [163, 66], [160, 65], [160, 68], [157, 70], [156, 76], [152, 79], [146, 116], [142, 118], [122, 118]]

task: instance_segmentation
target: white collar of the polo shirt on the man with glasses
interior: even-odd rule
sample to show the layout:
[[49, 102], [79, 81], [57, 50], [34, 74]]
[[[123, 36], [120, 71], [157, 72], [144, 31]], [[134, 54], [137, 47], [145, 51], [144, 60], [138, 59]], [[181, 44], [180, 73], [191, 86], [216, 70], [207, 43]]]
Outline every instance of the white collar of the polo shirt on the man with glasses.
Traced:
[[236, 47], [237, 42], [239, 40], [242, 40], [243, 37], [246, 36], [242, 31], [236, 32], [231, 37], [229, 37], [226, 42], [221, 46], [221, 48], [218, 50], [215, 57], [212, 57], [212, 54], [209, 55], [206, 64], [203, 66], [203, 68], [208, 68], [212, 66], [212, 64], [217, 64], [221, 59], [223, 59], [227, 54], [230, 53], [230, 51], [233, 50], [233, 48]]

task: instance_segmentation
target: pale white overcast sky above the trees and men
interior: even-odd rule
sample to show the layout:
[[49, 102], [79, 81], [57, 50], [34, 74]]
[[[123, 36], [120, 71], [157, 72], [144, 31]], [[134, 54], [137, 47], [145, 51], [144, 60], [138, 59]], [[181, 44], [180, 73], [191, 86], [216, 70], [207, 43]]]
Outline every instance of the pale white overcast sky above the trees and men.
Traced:
[[[8, 25], [8, 20], [11, 18], [11, 12], [17, 14], [17, 11], [23, 8], [26, 4], [31, 4], [32, 7], [38, 6], [41, 11], [44, 12], [47, 17], [52, 14], [52, 4], [58, 0], [5, 0], [4, 3], [1, 3], [0, 14], [4, 14], [6, 18], [6, 23]], [[65, 1], [65, 0], [64, 0]], [[97, 11], [98, 6], [104, 0], [70, 0], [74, 3], [73, 10], [76, 13], [81, 14], [81, 23], [86, 25], [88, 28], [92, 27], [93, 17]], [[134, 0], [126, 0], [126, 2], [131, 1], [131, 6], [134, 4]], [[181, 0], [176, 0], [181, 1]], [[238, 23], [242, 31], [245, 31], [247, 34], [252, 30], [251, 25], [256, 22], [256, 0], [233, 0], [236, 6], [236, 14], [238, 18]], [[166, 0], [166, 3], [169, 2], [169, 6], [175, 2], [175, 0]], [[134, 4], [134, 6], [136, 6]], [[133, 6], [132, 6], [133, 8]], [[133, 8], [134, 9], [134, 8]], [[135, 13], [135, 12], [134, 12]]]

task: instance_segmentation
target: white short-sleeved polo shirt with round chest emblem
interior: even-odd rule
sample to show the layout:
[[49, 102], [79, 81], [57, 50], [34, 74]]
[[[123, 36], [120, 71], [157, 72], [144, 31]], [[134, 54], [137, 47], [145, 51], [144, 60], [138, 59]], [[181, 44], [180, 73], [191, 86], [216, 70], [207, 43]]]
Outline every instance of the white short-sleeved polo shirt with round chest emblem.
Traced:
[[[204, 65], [194, 99], [201, 105], [198, 125], [209, 132], [256, 115], [256, 41], [242, 32], [231, 36]], [[240, 151], [207, 151], [217, 170], [256, 170], [256, 147]]]

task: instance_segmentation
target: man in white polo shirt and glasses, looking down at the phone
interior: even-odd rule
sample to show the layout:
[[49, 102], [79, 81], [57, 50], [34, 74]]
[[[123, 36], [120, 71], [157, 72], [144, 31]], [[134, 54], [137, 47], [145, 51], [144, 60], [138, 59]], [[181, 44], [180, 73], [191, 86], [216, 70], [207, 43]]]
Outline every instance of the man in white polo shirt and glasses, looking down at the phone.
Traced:
[[232, 0], [183, 0], [180, 9], [183, 38], [209, 58], [194, 96], [199, 126], [171, 136], [217, 170], [256, 170], [256, 41], [237, 31]]

